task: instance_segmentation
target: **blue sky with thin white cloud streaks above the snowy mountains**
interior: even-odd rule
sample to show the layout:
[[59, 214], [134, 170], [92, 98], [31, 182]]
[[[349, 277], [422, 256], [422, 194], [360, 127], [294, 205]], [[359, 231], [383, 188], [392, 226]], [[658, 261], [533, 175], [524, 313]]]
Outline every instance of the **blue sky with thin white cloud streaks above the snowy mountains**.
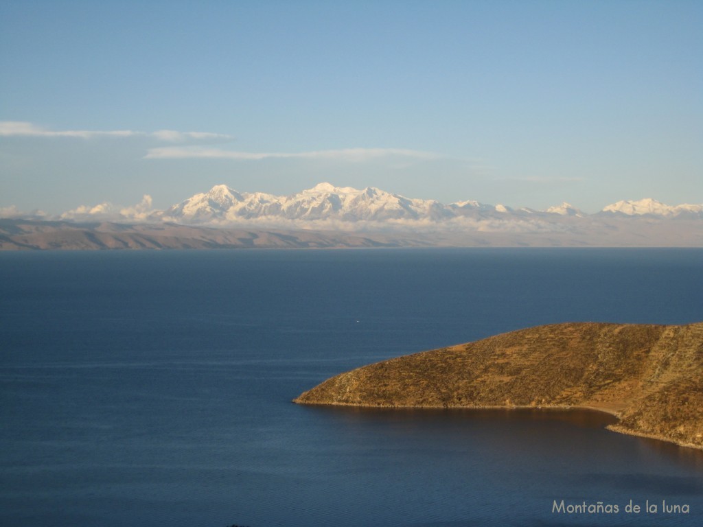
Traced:
[[703, 2], [0, 3], [0, 210], [703, 203]]

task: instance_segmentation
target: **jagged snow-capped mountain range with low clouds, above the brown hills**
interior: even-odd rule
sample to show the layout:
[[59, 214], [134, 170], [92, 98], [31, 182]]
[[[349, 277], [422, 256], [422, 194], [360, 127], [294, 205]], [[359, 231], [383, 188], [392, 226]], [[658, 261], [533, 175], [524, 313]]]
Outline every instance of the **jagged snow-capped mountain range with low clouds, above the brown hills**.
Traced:
[[[0, 216], [29, 217], [14, 207], [0, 209]], [[38, 215], [34, 215], [39, 219]], [[572, 228], [586, 219], [703, 219], [703, 204], [670, 206], [657, 200], [619, 201], [596, 214], [586, 214], [569, 203], [545, 211], [512, 209], [503, 204], [483, 204], [466, 200], [442, 204], [389, 193], [379, 188], [361, 190], [319, 183], [313, 188], [287, 196], [267, 193], [240, 193], [217, 185], [166, 210], [152, 208], [144, 196], [132, 207], [110, 203], [82, 205], [58, 216], [68, 221], [169, 222], [200, 226], [266, 225], [294, 228], [375, 228], [430, 226], [460, 230], [533, 232]], [[52, 219], [43, 216], [42, 219]]]

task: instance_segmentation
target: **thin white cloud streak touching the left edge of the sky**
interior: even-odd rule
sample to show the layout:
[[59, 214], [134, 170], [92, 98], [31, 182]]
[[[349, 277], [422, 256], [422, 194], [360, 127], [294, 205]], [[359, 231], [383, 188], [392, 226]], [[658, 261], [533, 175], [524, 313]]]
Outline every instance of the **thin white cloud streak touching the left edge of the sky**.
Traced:
[[3, 137], [72, 137], [90, 139], [94, 137], [146, 137], [168, 143], [186, 141], [231, 141], [233, 136], [213, 134], [211, 132], [181, 132], [175, 130], [157, 130], [143, 132], [135, 130], [51, 130], [23, 121], [0, 121], [0, 136]]

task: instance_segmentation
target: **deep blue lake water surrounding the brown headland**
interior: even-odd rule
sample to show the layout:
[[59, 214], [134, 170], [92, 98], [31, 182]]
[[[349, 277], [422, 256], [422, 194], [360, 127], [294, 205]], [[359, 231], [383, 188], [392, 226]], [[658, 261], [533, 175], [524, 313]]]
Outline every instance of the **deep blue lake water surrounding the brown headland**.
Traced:
[[703, 320], [703, 250], [0, 253], [0, 525], [703, 525], [703, 453], [604, 414], [290, 403], [579, 320]]

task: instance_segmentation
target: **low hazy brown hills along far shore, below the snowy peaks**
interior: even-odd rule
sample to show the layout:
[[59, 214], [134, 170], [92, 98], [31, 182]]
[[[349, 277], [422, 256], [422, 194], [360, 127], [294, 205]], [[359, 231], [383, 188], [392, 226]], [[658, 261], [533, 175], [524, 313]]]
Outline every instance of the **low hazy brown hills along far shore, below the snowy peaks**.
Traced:
[[703, 248], [703, 221], [622, 221], [598, 230], [510, 232], [439, 226], [368, 230], [176, 223], [77, 223], [0, 219], [1, 250], [370, 249], [432, 247], [670, 247]]

